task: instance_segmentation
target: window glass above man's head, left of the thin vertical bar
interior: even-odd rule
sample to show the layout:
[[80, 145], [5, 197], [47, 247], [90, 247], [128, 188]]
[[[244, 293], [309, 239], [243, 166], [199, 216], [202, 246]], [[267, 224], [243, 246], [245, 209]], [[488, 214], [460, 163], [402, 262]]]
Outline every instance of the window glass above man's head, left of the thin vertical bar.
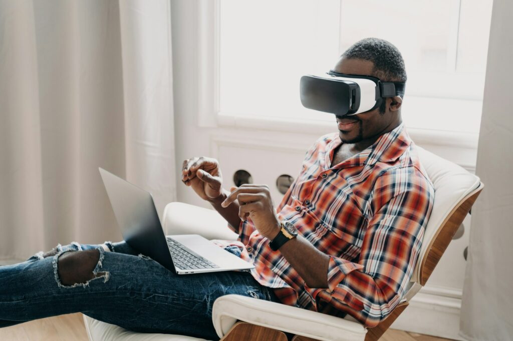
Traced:
[[377, 37], [397, 46], [407, 72], [451, 70], [458, 4], [458, 0], [342, 0], [341, 52], [360, 39]]

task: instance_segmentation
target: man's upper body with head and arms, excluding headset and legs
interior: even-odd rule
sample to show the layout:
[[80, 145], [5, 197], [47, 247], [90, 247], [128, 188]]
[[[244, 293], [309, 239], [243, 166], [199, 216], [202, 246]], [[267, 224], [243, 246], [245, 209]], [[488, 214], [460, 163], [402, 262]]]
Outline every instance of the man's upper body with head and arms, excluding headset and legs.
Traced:
[[[375, 38], [350, 47], [333, 71], [406, 81], [400, 52]], [[186, 160], [182, 180], [239, 233], [252, 250], [253, 277], [279, 288], [280, 301], [318, 310], [327, 303], [375, 326], [405, 292], [434, 196], [404, 131], [401, 104], [396, 96], [376, 110], [337, 116], [338, 136], [321, 137], [306, 153], [278, 214], [267, 186], [222, 190], [213, 159]], [[300, 233], [272, 252], [268, 241], [282, 221]]]

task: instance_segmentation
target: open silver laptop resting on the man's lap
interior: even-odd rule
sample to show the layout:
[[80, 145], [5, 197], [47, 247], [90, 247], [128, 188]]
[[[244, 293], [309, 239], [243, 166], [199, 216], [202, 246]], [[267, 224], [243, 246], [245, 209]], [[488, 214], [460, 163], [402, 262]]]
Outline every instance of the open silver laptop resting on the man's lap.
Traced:
[[200, 235], [165, 236], [151, 194], [100, 169], [123, 239], [177, 274], [248, 270], [254, 266]]

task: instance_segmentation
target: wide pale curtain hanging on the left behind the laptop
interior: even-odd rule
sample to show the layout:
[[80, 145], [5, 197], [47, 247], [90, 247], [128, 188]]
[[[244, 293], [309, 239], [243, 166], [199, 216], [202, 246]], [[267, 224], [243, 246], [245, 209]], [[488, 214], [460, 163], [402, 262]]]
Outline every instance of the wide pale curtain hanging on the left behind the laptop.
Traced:
[[166, 0], [0, 0], [0, 260], [120, 240], [98, 167], [175, 198]]

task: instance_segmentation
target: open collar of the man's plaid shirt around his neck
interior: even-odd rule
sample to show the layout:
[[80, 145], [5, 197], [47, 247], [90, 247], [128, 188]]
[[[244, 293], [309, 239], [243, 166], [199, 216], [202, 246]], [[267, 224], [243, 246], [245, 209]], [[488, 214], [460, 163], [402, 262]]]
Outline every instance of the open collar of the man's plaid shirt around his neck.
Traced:
[[[326, 153], [327, 164], [330, 162], [330, 157], [331, 160], [333, 160], [334, 148], [338, 147], [341, 143], [342, 141], [340, 140], [339, 136], [332, 140], [332, 143], [330, 143], [330, 146], [328, 147], [329, 152]], [[411, 139], [404, 129], [404, 123], [401, 123], [392, 131], [381, 135], [376, 140], [376, 142], [367, 147], [365, 150], [353, 155], [349, 159], [332, 168], [363, 164], [373, 165], [378, 161], [393, 162], [404, 153], [404, 151], [409, 147], [410, 143]]]

